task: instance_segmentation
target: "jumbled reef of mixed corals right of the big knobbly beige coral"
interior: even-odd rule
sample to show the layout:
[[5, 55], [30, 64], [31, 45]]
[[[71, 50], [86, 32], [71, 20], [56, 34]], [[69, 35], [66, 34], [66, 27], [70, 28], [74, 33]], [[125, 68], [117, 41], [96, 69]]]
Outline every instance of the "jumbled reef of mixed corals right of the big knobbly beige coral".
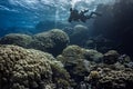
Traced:
[[74, 80], [75, 89], [131, 89], [133, 85], [130, 57], [115, 50], [102, 55], [96, 50], [69, 46], [57, 59]]

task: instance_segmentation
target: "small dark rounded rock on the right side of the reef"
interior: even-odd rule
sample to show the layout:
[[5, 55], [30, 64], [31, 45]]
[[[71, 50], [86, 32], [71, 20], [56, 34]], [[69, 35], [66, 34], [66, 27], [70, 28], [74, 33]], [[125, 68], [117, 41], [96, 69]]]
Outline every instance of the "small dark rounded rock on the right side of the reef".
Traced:
[[116, 61], [119, 61], [119, 52], [115, 51], [115, 50], [110, 50], [108, 51], [106, 53], [104, 53], [104, 57], [103, 57], [103, 62], [104, 63], [108, 63], [108, 65], [113, 65], [115, 63]]

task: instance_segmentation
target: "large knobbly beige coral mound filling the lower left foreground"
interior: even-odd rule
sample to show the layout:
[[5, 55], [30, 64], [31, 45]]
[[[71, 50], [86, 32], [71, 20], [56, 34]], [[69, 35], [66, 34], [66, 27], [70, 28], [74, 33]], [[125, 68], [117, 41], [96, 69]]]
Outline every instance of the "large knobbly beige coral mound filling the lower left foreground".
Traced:
[[33, 49], [0, 46], [0, 75], [2, 77], [0, 85], [2, 85], [2, 89], [38, 88], [42, 80], [50, 82], [52, 69], [49, 59], [54, 58]]

